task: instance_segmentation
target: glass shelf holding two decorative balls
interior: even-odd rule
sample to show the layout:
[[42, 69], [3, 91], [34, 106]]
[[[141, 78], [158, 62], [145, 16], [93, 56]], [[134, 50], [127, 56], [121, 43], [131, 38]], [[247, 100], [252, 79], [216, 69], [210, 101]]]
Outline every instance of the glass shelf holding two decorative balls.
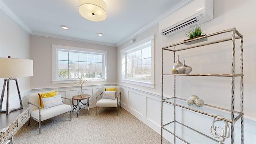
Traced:
[[[182, 108], [186, 108], [186, 109], [192, 110], [194, 112], [199, 112], [201, 114], [205, 114], [205, 115], [208, 115], [208, 116], [211, 116], [214, 118], [219, 118], [221, 120], [225, 120], [230, 123], [236, 122], [242, 116], [242, 114], [240, 112], [235, 111], [234, 112], [234, 120], [232, 120], [231, 110], [219, 108], [216, 106], [211, 106], [208, 104], [204, 104], [204, 106], [202, 106], [202, 107], [197, 107], [194, 104], [192, 106], [189, 106], [186, 103], [186, 100], [182, 99], [182, 98], [166, 98], [166, 99], [163, 99], [163, 102], [173, 104], [175, 106], [179, 106]], [[222, 115], [222, 116], [224, 116], [224, 118], [222, 118], [218, 115]]]

